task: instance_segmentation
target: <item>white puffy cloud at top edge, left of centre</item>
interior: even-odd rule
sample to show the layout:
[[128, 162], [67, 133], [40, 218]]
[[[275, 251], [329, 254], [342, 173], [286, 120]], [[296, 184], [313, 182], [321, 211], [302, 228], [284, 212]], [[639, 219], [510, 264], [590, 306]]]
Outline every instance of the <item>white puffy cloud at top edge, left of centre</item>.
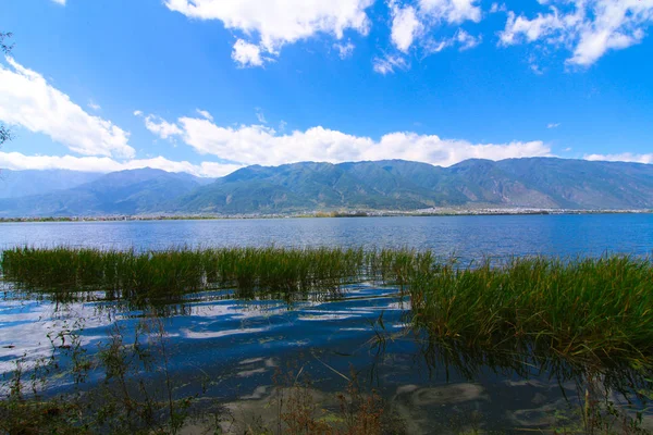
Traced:
[[367, 35], [366, 13], [374, 0], [165, 0], [171, 11], [192, 18], [219, 20], [238, 39], [232, 58], [243, 66], [261, 66], [261, 53], [279, 55], [287, 44], [317, 34], [342, 39], [345, 30]]

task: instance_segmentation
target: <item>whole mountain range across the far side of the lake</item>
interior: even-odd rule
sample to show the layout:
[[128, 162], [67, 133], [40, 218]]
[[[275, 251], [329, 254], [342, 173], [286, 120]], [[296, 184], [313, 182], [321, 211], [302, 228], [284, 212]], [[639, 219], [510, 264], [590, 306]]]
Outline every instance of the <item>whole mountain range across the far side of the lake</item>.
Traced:
[[653, 209], [653, 165], [556, 158], [252, 165], [221, 178], [144, 169], [0, 172], [0, 217], [284, 214], [429, 208]]

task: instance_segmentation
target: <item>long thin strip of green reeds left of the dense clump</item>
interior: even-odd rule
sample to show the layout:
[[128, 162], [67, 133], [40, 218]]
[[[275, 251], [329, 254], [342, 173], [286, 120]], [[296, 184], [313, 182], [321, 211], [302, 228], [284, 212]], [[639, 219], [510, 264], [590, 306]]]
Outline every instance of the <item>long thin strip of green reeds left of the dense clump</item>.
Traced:
[[104, 291], [108, 299], [151, 300], [230, 288], [236, 297], [338, 296], [362, 281], [405, 284], [433, 257], [414, 250], [220, 248], [135, 250], [19, 247], [2, 252], [3, 278], [30, 291]]

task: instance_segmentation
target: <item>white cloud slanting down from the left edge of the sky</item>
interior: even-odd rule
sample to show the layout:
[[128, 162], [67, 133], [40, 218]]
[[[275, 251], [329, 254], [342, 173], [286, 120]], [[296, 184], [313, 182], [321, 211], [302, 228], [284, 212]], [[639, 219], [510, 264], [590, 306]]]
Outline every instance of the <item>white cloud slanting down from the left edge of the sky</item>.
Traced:
[[85, 156], [131, 158], [130, 134], [110, 121], [86, 113], [42, 75], [11, 58], [0, 65], [0, 120], [42, 133]]

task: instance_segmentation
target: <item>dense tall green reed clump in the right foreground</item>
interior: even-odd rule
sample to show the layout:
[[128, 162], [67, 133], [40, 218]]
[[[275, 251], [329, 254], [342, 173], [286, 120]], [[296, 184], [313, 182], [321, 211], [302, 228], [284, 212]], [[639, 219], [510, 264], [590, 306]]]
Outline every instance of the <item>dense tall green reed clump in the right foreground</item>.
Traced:
[[409, 285], [412, 324], [465, 347], [551, 353], [651, 366], [653, 263], [649, 259], [514, 259], [443, 265]]

